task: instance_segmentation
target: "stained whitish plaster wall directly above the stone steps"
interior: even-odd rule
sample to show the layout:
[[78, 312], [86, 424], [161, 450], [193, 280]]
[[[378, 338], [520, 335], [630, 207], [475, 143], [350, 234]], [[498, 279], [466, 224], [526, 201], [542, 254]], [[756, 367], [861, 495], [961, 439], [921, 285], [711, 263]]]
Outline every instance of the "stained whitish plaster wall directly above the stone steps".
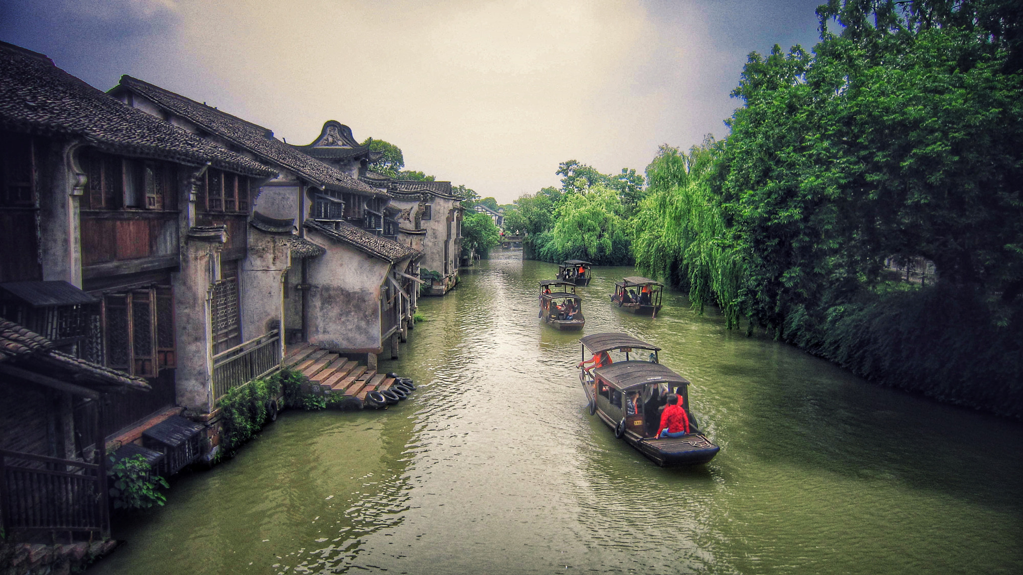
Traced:
[[309, 260], [309, 341], [335, 351], [380, 353], [380, 297], [391, 265], [309, 229], [326, 248]]

